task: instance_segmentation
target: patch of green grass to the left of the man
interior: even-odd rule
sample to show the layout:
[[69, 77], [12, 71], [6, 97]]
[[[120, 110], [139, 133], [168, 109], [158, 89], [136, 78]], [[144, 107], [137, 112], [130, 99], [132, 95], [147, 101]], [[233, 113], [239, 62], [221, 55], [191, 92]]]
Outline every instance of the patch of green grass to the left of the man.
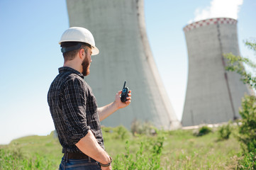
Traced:
[[28, 136], [0, 145], [0, 169], [57, 169], [62, 147], [53, 137]]

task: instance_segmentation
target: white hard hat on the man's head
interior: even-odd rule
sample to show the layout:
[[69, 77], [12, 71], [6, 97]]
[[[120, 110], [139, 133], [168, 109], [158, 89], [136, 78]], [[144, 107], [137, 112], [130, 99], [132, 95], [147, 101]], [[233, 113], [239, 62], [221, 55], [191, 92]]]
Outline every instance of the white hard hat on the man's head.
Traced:
[[[61, 42], [85, 42], [91, 45], [91, 55], [98, 55], [99, 49], [95, 46], [94, 36], [89, 30], [82, 27], [71, 27], [65, 30], [60, 38]], [[81, 47], [81, 46], [80, 46]]]

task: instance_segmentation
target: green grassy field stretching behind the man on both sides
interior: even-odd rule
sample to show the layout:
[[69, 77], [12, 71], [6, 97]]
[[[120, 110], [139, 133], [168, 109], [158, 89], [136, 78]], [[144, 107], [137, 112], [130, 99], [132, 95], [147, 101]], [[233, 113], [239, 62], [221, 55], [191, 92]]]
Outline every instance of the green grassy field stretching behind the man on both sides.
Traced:
[[[238, 166], [240, 143], [232, 134], [228, 140], [218, 140], [214, 130], [200, 137], [193, 135], [192, 130], [160, 130], [157, 135], [133, 136], [122, 127], [103, 128], [103, 134], [106, 151], [116, 159], [113, 167], [121, 164], [123, 158], [135, 163], [136, 160], [159, 163], [161, 168], [157, 169], [236, 169]], [[9, 145], [0, 145], [0, 169], [58, 169], [62, 147], [53, 136], [52, 132], [48, 136], [22, 137]], [[155, 146], [159, 146], [160, 137], [163, 145], [157, 159], [153, 152], [156, 152]], [[150, 157], [157, 162], [152, 163], [154, 160]], [[131, 167], [143, 169], [138, 168], [143, 167], [141, 164]]]

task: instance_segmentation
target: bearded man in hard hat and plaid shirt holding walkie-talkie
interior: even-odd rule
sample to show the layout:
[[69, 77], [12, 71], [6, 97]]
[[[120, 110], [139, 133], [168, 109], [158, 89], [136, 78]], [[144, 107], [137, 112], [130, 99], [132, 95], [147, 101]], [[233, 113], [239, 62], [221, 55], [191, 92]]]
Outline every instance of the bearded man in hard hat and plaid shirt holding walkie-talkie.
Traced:
[[64, 65], [52, 81], [48, 104], [60, 144], [60, 169], [111, 169], [111, 157], [104, 150], [100, 121], [130, 104], [130, 91], [125, 103], [121, 91], [115, 101], [98, 108], [90, 86], [84, 81], [89, 74], [91, 55], [99, 54], [94, 37], [81, 27], [69, 28], [60, 40]]

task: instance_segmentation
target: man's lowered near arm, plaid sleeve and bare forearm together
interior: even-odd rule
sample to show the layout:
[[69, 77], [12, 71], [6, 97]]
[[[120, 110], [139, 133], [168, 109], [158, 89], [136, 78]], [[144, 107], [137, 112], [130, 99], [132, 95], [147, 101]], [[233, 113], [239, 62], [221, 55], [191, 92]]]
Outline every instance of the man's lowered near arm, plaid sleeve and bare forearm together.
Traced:
[[[108, 164], [110, 157], [99, 145], [96, 137], [91, 132], [87, 124], [86, 114], [86, 89], [84, 89], [83, 79], [72, 79], [67, 81], [63, 88], [62, 115], [65, 121], [65, 126], [69, 134], [70, 142], [73, 142], [78, 149], [84, 154], [87, 154], [92, 159], [101, 164]], [[109, 170], [111, 166], [101, 167], [101, 169]]]

